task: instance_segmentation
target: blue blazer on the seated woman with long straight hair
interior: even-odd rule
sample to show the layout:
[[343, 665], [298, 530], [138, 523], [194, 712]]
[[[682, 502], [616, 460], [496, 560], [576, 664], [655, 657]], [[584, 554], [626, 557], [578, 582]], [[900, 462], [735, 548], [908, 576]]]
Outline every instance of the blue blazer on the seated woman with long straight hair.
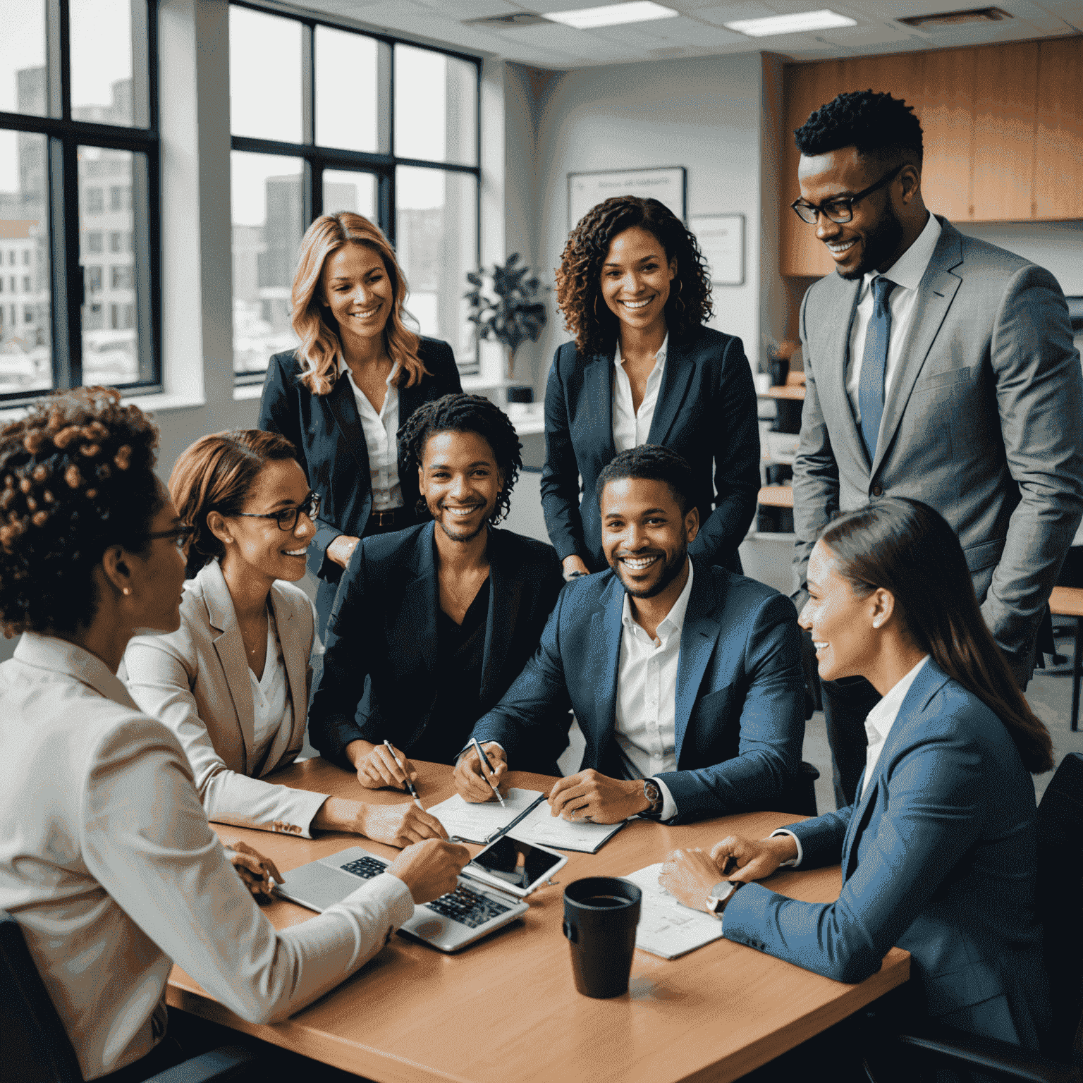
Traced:
[[1034, 911], [1034, 785], [1004, 723], [930, 658], [860, 800], [791, 824], [801, 867], [841, 859], [833, 903], [749, 884], [725, 935], [837, 981], [911, 953], [928, 1014], [1038, 1048], [1048, 1015]]

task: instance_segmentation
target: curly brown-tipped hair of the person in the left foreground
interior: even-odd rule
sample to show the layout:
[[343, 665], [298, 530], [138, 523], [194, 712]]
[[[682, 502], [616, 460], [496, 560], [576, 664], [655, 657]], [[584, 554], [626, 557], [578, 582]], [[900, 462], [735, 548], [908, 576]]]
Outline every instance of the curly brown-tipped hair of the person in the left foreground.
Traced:
[[97, 609], [105, 550], [146, 552], [164, 497], [158, 429], [114, 388], [62, 391], [0, 430], [0, 623], [74, 634]]

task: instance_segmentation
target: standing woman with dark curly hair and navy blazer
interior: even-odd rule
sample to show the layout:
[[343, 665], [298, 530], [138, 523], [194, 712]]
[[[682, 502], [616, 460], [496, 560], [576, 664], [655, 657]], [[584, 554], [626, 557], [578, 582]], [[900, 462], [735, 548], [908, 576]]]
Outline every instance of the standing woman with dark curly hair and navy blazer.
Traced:
[[690, 552], [740, 571], [759, 491], [756, 392], [741, 340], [704, 326], [710, 279], [695, 237], [657, 199], [606, 199], [567, 238], [557, 303], [575, 341], [546, 386], [542, 507], [564, 577], [608, 566], [595, 486], [638, 444], [688, 459], [702, 524]]

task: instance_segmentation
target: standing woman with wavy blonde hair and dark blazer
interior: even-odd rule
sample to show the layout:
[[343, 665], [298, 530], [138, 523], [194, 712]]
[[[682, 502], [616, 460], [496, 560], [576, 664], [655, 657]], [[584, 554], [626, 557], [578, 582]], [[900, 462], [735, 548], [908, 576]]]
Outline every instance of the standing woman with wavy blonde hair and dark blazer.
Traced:
[[268, 365], [258, 427], [297, 448], [321, 498], [309, 567], [323, 634], [342, 569], [367, 535], [417, 522], [395, 433], [417, 407], [460, 391], [452, 348], [403, 323], [406, 279], [387, 237], [351, 211], [323, 214], [293, 278], [297, 350]]

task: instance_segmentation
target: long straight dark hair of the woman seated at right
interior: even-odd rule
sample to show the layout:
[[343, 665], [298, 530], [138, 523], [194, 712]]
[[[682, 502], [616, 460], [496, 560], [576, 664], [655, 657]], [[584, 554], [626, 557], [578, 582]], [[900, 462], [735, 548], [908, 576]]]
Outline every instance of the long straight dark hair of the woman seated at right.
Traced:
[[974, 593], [963, 547], [921, 500], [888, 497], [839, 516], [820, 540], [860, 598], [883, 588], [914, 645], [1007, 727], [1032, 774], [1053, 769], [1049, 731], [1030, 709]]

